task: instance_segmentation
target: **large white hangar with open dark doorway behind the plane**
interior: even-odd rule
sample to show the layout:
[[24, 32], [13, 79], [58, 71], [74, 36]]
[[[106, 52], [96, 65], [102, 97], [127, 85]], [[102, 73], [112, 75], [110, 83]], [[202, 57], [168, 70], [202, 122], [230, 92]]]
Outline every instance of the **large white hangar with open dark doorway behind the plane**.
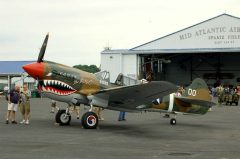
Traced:
[[119, 73], [134, 79], [209, 85], [240, 82], [240, 18], [221, 14], [131, 49], [101, 52], [101, 70], [111, 82]]

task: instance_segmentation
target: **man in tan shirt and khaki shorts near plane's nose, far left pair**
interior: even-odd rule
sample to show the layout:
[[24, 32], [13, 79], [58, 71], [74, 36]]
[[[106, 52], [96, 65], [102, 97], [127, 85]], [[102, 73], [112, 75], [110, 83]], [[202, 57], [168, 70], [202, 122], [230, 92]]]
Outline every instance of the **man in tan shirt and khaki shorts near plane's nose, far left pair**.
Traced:
[[23, 91], [20, 93], [20, 111], [22, 114], [22, 121], [20, 124], [29, 124], [30, 118], [30, 97], [31, 92], [28, 90], [28, 86], [25, 84], [23, 86]]

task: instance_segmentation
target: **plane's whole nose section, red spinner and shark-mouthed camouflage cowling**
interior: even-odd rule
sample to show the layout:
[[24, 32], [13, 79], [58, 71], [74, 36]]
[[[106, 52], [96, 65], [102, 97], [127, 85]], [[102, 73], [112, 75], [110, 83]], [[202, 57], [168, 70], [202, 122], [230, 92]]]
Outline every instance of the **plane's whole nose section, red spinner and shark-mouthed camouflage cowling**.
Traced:
[[31, 63], [23, 66], [39, 81], [38, 89], [47, 97], [71, 103], [75, 98], [87, 102], [87, 96], [101, 90], [99, 79], [79, 69], [54, 62]]

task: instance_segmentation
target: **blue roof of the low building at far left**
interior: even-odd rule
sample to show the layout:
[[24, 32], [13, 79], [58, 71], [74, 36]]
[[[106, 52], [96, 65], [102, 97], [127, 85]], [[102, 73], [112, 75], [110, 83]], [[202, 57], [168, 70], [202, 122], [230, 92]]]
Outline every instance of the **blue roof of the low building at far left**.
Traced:
[[24, 72], [22, 66], [32, 62], [35, 61], [0, 61], [0, 76], [20, 76]]

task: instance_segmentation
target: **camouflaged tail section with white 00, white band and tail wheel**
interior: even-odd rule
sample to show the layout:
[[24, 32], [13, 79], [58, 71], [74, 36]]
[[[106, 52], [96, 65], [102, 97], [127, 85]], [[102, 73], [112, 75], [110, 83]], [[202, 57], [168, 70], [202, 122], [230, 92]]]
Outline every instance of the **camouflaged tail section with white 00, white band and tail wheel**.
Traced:
[[175, 125], [177, 114], [206, 114], [209, 108], [215, 105], [211, 100], [212, 97], [205, 81], [196, 78], [182, 94], [172, 93], [154, 100], [152, 105], [138, 108], [145, 111], [163, 112], [164, 117], [173, 115], [174, 118], [171, 118], [170, 124]]

